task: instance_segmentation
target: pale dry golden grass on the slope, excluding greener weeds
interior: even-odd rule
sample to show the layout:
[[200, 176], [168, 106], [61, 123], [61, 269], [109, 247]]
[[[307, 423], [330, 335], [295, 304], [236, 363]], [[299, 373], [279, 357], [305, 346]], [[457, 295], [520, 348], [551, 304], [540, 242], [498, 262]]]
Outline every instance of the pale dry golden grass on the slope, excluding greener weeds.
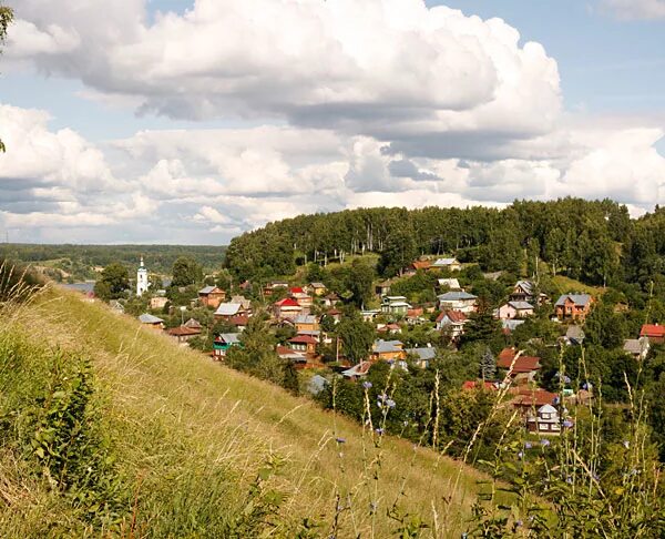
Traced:
[[[337, 516], [338, 537], [389, 536], [397, 523], [386, 509], [403, 484], [400, 508], [430, 526], [426, 537], [459, 537], [480, 488], [477, 481], [487, 479], [405, 440], [387, 437], [377, 449], [357, 424], [178, 347], [76, 293], [45, 291], [20, 311], [18, 321], [34, 339], [92, 357], [110, 436], [126, 481], [139, 495], [161, 490], [177, 496], [177, 485], [194, 480], [198, 471], [202, 485], [221, 474], [222, 486], [202, 496], [219, 497], [224, 511], [225, 504], [242, 505], [239, 485], [250, 482], [267, 459], [279, 459], [283, 465], [270, 481], [286, 498], [275, 535], [288, 536], [311, 518], [325, 536]], [[135, 510], [145, 535], [158, 506], [154, 492]], [[336, 495], [347, 500], [337, 510]], [[371, 502], [379, 507], [375, 518]]]

